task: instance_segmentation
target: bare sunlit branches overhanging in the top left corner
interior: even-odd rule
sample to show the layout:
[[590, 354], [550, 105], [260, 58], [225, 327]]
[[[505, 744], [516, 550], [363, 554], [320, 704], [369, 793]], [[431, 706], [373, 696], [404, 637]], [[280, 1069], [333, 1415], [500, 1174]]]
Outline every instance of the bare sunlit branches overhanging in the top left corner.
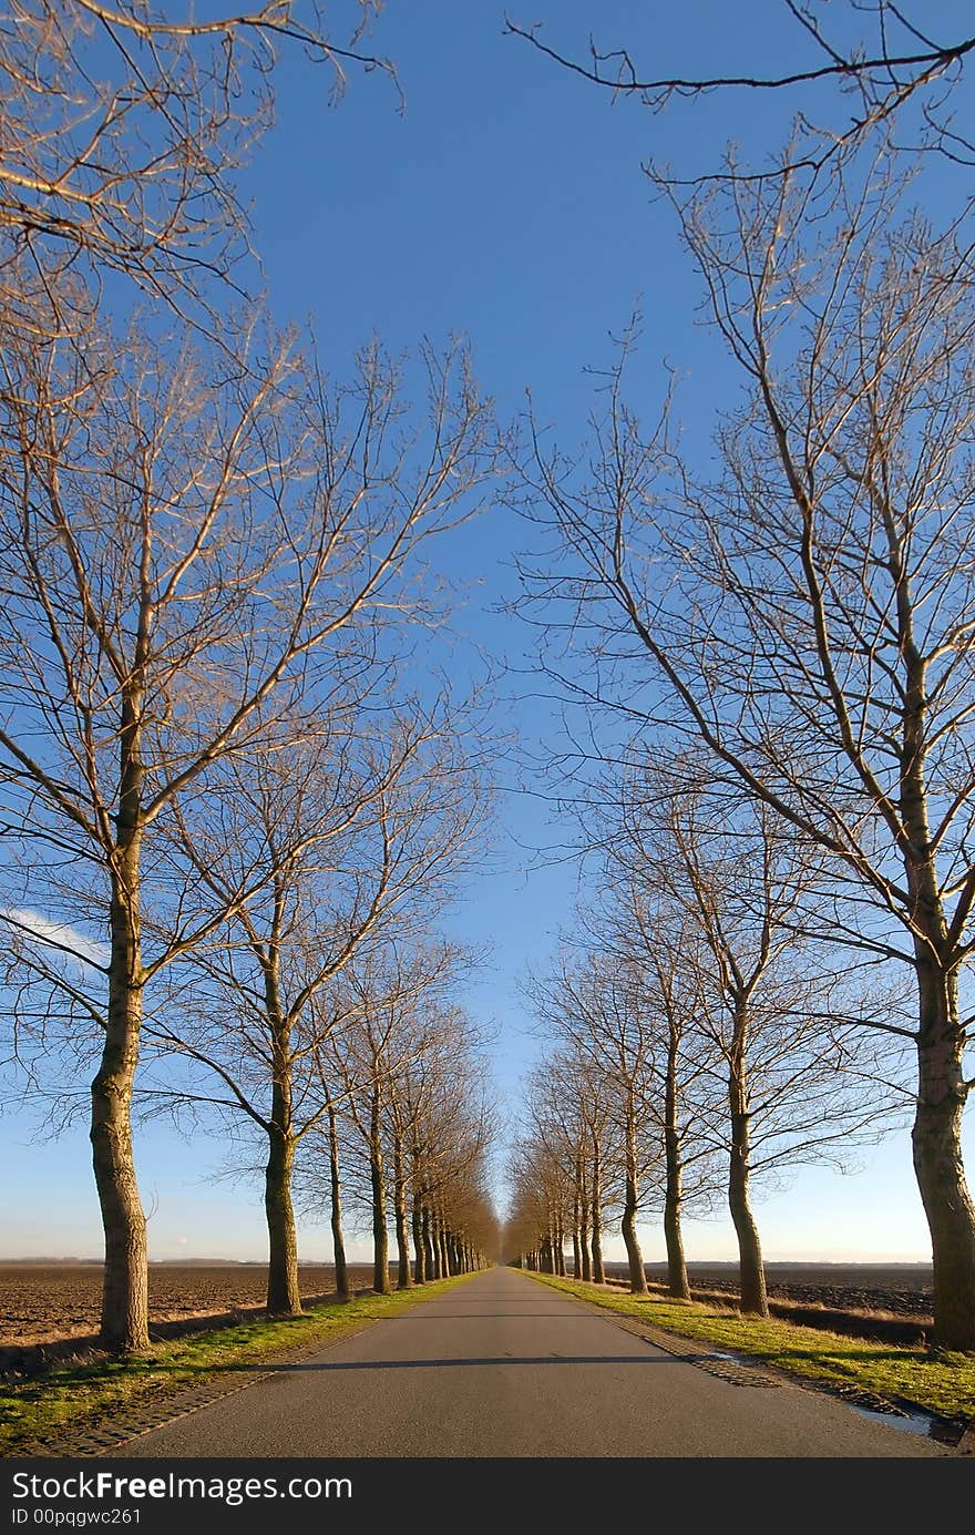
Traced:
[[25, 287], [46, 293], [63, 328], [80, 279], [91, 301], [106, 273], [121, 273], [210, 327], [247, 249], [235, 172], [270, 121], [278, 49], [324, 63], [335, 91], [350, 66], [392, 74], [361, 48], [378, 5], [345, 9], [339, 41], [315, 5], [290, 0], [207, 20], [192, 8], [163, 17], [143, 0], [11, 0], [0, 23], [5, 325], [25, 319]]

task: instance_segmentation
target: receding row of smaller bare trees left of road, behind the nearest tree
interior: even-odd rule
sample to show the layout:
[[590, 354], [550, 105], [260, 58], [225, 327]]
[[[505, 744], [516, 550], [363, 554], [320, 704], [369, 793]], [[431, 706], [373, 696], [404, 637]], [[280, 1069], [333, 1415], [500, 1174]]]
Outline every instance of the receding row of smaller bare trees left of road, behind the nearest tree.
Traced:
[[[253, 1165], [255, 1147], [264, 1151], [267, 1309], [276, 1315], [301, 1311], [296, 1207], [319, 1223], [329, 1210], [342, 1297], [342, 1210], [372, 1234], [378, 1294], [390, 1291], [390, 1225], [399, 1289], [465, 1273], [493, 1251], [493, 1108], [484, 1039], [450, 1001], [461, 956], [444, 944], [407, 949], [402, 926], [392, 941], [356, 946], [327, 985], [318, 984], [319, 949], [286, 939], [269, 964], [264, 944], [250, 953], [227, 944], [193, 1024], [177, 1030], [163, 1015], [146, 1025], [150, 1047], [164, 1051], [160, 1085], [144, 1088], [154, 1107], [216, 1113], [238, 1171]], [[178, 1082], [174, 1053], [186, 1067]]]

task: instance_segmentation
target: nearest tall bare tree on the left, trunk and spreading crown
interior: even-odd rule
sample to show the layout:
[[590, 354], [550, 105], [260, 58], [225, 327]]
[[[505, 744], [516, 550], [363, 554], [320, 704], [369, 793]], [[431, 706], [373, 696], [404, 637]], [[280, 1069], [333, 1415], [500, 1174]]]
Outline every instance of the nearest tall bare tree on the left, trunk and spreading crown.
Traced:
[[104, 913], [104, 999], [88, 1007], [104, 1028], [92, 1085], [101, 1337], [134, 1349], [147, 1343], [129, 1124], [143, 996], [213, 923], [178, 919], [143, 953], [157, 827], [296, 697], [382, 665], [390, 622], [428, 612], [410, 571], [474, 505], [488, 411], [458, 353], [427, 355], [419, 442], [376, 347], [336, 391], [290, 342], [261, 361], [247, 335], [207, 355], [135, 335], [121, 353], [107, 335], [83, 352], [77, 338], [8, 342], [5, 907], [75, 924]]

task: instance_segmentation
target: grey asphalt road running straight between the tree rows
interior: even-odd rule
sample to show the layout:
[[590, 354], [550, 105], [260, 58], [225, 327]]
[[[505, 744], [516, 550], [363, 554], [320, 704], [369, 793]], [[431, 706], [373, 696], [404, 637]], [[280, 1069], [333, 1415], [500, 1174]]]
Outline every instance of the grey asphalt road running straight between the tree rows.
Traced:
[[[639, 1329], [639, 1323], [633, 1323]], [[673, 1352], [671, 1352], [673, 1349]], [[490, 1269], [117, 1457], [930, 1457], [934, 1440]]]

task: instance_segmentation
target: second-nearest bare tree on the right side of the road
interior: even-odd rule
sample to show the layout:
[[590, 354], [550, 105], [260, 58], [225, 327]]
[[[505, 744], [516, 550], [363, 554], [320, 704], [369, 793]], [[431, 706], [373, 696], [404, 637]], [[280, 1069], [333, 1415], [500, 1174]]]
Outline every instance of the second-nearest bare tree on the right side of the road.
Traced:
[[866, 1067], [855, 1076], [838, 1068], [851, 1055], [851, 1030], [821, 1027], [832, 972], [811, 953], [798, 916], [815, 867], [811, 850], [768, 806], [746, 801], [735, 814], [720, 795], [709, 800], [702, 778], [662, 806], [659, 784], [648, 780], [628, 806], [626, 832], [645, 875], [679, 903], [700, 938], [682, 958], [685, 966], [697, 959], [694, 1025], [725, 1076], [722, 1144], [742, 1309], [765, 1315], [752, 1177], [823, 1162], [837, 1150], [841, 1159], [889, 1104], [864, 1093]]

